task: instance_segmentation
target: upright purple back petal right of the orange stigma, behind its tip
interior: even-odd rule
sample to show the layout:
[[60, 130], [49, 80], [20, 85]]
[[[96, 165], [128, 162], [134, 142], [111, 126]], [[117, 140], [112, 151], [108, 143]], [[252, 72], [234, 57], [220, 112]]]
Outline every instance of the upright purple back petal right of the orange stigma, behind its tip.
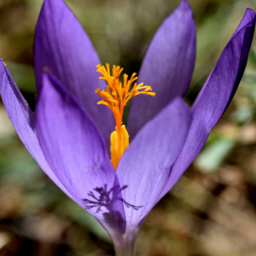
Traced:
[[161, 108], [188, 89], [195, 66], [195, 21], [189, 3], [183, 0], [164, 20], [148, 46], [138, 75], [139, 83], [156, 93], [133, 98], [128, 119], [131, 139]]

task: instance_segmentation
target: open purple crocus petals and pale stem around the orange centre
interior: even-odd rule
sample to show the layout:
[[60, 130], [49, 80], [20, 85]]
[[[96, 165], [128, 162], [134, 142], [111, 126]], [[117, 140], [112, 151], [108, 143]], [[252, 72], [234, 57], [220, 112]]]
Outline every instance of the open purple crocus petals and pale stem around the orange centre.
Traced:
[[[107, 91], [106, 81], [96, 73], [100, 60], [62, 0], [44, 0], [38, 18], [35, 113], [1, 61], [0, 93], [21, 141], [55, 184], [108, 230], [117, 255], [133, 255], [148, 212], [195, 159], [230, 104], [247, 64], [254, 24], [255, 14], [247, 9], [189, 108], [182, 96], [195, 65], [195, 22], [189, 3], [179, 4], [155, 33], [143, 59], [138, 84], [151, 85], [155, 96], [133, 98], [127, 125], [130, 145], [116, 170], [108, 153], [113, 113], [97, 105], [98, 94]], [[104, 78], [108, 86], [117, 81], [108, 71]]]

